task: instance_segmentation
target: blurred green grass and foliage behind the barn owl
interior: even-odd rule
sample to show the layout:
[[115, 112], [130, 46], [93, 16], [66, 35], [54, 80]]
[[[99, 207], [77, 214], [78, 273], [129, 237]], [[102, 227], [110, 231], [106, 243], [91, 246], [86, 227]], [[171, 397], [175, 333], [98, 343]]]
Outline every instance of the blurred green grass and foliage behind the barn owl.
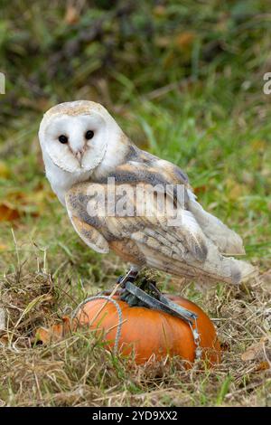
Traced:
[[250, 258], [268, 262], [270, 36], [264, 0], [1, 0], [2, 258], [11, 225], [23, 235], [35, 228], [33, 238], [51, 247], [49, 221], [66, 245], [37, 130], [52, 105], [91, 99], [138, 146], [182, 166], [201, 203], [245, 238]]

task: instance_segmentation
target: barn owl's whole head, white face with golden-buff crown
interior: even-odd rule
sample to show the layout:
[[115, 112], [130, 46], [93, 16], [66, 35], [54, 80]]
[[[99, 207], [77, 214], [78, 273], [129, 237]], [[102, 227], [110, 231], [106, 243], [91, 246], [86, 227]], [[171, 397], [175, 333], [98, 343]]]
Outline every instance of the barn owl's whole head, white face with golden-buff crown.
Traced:
[[78, 100], [49, 109], [42, 118], [39, 138], [44, 161], [79, 175], [95, 170], [108, 144], [114, 145], [121, 133], [107, 109]]

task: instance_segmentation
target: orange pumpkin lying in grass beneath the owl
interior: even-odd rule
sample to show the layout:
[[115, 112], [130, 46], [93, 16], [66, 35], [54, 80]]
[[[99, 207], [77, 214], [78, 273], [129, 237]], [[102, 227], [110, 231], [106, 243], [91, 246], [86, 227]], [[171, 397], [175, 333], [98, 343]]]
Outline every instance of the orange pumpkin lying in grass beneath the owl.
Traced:
[[[173, 302], [198, 315], [197, 324], [201, 337], [201, 358], [209, 364], [220, 363], [220, 343], [210, 318], [192, 301], [182, 297], [168, 296]], [[162, 311], [146, 307], [129, 307], [114, 297], [122, 311], [118, 349], [122, 354], [135, 353], [135, 363], [144, 364], [155, 358], [161, 360], [167, 354], [178, 355], [183, 360], [195, 360], [195, 343], [191, 327], [182, 319]], [[108, 346], [114, 346], [117, 335], [118, 314], [112, 302], [105, 299], [88, 301], [76, 316], [79, 325], [103, 332]], [[194, 326], [193, 326], [194, 327]]]

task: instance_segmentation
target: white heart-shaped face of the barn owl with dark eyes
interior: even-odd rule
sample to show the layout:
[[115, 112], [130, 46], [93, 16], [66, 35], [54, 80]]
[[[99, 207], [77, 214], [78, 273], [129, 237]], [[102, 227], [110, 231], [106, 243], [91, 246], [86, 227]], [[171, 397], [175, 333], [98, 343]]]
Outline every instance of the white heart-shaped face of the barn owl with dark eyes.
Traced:
[[107, 150], [107, 120], [91, 114], [56, 114], [41, 126], [42, 150], [54, 165], [69, 173], [94, 170]]

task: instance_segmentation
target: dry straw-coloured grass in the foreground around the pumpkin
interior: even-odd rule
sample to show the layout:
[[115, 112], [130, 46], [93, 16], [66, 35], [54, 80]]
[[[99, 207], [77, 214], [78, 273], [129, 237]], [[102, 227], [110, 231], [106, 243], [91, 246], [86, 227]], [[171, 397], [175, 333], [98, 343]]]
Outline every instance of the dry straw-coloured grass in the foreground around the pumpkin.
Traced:
[[204, 297], [191, 285], [182, 289], [182, 295], [204, 302], [218, 327], [222, 363], [203, 371], [198, 364], [187, 371], [177, 358], [128, 366], [85, 331], [48, 346], [36, 344], [35, 329], [50, 326], [71, 305], [70, 295], [53, 283], [49, 274], [23, 268], [1, 282], [7, 319], [0, 337], [2, 405], [271, 404], [270, 273], [241, 288], [210, 288]]

